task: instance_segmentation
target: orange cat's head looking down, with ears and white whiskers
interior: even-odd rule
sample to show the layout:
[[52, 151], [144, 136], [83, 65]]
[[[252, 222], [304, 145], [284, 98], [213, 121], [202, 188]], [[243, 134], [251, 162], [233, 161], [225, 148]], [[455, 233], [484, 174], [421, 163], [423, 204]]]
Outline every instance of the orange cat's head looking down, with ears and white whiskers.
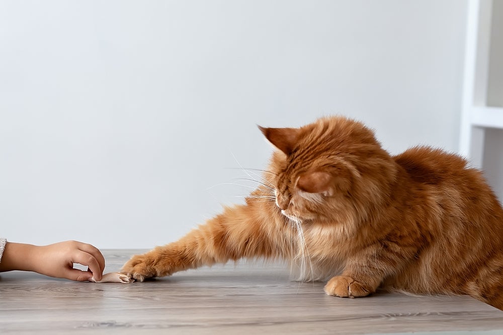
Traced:
[[276, 147], [271, 160], [276, 204], [296, 222], [363, 219], [389, 193], [395, 164], [362, 123], [343, 117], [301, 128], [263, 128]]

